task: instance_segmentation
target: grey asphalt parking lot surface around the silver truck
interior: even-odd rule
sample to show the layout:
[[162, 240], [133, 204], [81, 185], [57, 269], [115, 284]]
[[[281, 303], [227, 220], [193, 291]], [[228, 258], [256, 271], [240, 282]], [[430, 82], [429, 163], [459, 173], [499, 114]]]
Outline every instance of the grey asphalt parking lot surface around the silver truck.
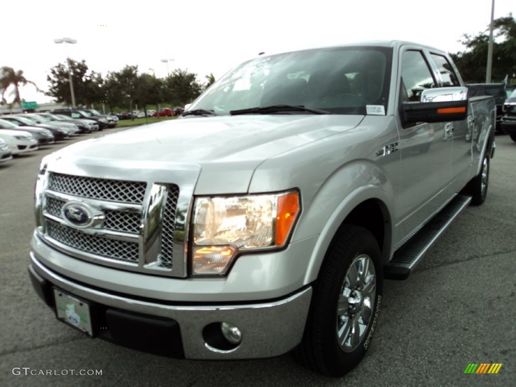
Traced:
[[[56, 321], [27, 275], [33, 189], [41, 158], [78, 140], [0, 164], [0, 385], [514, 385], [516, 142], [509, 136], [496, 136], [486, 203], [468, 207], [408, 280], [384, 283], [368, 356], [341, 379], [305, 370], [289, 354], [234, 362], [157, 357], [91, 340]], [[464, 375], [469, 363], [503, 366], [496, 375]], [[49, 370], [58, 375], [41, 375]]]

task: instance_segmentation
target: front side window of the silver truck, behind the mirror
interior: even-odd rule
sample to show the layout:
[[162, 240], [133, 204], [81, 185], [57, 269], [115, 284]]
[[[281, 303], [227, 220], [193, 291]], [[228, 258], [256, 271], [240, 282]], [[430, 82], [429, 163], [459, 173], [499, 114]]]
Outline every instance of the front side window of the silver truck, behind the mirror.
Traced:
[[403, 53], [401, 79], [402, 101], [418, 102], [423, 90], [437, 87], [421, 51], [410, 50]]

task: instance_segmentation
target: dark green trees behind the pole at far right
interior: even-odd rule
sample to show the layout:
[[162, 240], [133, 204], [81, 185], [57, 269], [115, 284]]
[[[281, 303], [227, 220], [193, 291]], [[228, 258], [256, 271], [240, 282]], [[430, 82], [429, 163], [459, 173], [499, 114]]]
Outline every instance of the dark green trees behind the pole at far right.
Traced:
[[[516, 20], [507, 17], [493, 21], [493, 82], [503, 82], [506, 75], [516, 73]], [[450, 54], [466, 83], [483, 83], [486, 80], [489, 30], [471, 36], [464, 34], [463, 52]]]

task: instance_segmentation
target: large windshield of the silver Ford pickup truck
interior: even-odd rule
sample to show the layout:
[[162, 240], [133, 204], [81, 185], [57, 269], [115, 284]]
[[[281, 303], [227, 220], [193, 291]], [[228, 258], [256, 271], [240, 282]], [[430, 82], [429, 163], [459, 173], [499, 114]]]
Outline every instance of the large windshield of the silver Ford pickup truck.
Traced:
[[386, 110], [391, 57], [392, 49], [384, 47], [333, 47], [260, 56], [226, 74], [188, 110], [211, 110], [217, 115], [273, 105], [334, 114], [366, 114], [367, 105]]

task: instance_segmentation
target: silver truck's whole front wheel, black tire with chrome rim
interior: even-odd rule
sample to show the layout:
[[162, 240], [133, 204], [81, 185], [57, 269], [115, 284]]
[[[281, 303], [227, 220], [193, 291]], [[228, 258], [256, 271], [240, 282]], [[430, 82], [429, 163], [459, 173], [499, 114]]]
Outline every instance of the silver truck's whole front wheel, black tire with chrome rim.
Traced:
[[[303, 340], [295, 351], [302, 365], [338, 377], [360, 363], [373, 338], [380, 312], [383, 285], [380, 256], [374, 235], [362, 227], [344, 225], [335, 235], [314, 285]], [[348, 280], [354, 275], [356, 281], [352, 284]]]

